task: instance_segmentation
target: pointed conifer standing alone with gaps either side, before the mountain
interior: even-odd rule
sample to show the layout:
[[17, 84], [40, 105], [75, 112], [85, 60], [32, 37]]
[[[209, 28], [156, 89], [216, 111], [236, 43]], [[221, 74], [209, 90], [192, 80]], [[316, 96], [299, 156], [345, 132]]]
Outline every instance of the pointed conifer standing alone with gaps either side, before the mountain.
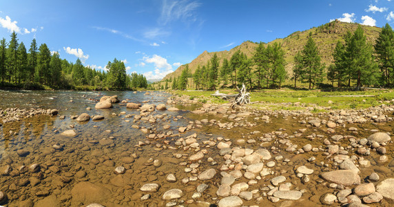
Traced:
[[[311, 34], [309, 34], [311, 36]], [[304, 46], [304, 50], [301, 52], [302, 57], [302, 82], [309, 83], [309, 89], [313, 89], [315, 83], [323, 81], [324, 75], [324, 63], [321, 62], [318, 54], [318, 47], [313, 41], [312, 37], [309, 37], [307, 44]]]

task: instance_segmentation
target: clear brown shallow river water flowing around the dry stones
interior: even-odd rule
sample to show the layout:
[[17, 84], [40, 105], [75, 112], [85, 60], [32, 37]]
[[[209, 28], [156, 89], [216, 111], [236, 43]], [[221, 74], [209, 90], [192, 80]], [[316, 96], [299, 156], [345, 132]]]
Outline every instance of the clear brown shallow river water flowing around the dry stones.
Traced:
[[[141, 111], [128, 109], [121, 103], [114, 103], [114, 108], [96, 110], [94, 106], [103, 95], [117, 95], [121, 101], [134, 103], [165, 103], [167, 108], [175, 106], [181, 110], [155, 110], [146, 113], [146, 119], [134, 119], [136, 115], [141, 115]], [[243, 200], [244, 206], [321, 206], [320, 196], [335, 191], [319, 177], [320, 172], [336, 168], [332, 158], [322, 155], [322, 150], [298, 155], [286, 151], [286, 143], [289, 142], [298, 148], [305, 144], [325, 148], [323, 140], [332, 136], [326, 126], [313, 128], [300, 124], [302, 117], [282, 115], [271, 116], [269, 121], [255, 117], [234, 121], [228, 119], [228, 114], [196, 115], [190, 110], [201, 106], [198, 101], [187, 106], [180, 103], [169, 105], [166, 103], [169, 97], [171, 95], [163, 92], [145, 95], [145, 92], [0, 91], [0, 108], [3, 109], [40, 107], [59, 110], [59, 115], [54, 117], [39, 115], [0, 126], [0, 190], [8, 197], [5, 205], [87, 206], [97, 203], [103, 206], [214, 206], [222, 199], [216, 191], [222, 179], [219, 172], [225, 159], [219, 155], [218, 148], [210, 144], [217, 144], [220, 140], [231, 141], [231, 147], [267, 148], [273, 158], [282, 156], [282, 159], [271, 159], [276, 163], [271, 168], [272, 175], [261, 177], [256, 184], [249, 186], [249, 191], [258, 192], [253, 194], [253, 199]], [[70, 116], [83, 112], [90, 116], [103, 115], [105, 119], [85, 122], [70, 119]], [[60, 118], [63, 115], [65, 119]], [[218, 122], [232, 123], [233, 126], [219, 128]], [[180, 127], [187, 127], [188, 130], [180, 132]], [[357, 132], [349, 131], [350, 127], [357, 128]], [[141, 130], [143, 128], [147, 133]], [[302, 128], [305, 130], [302, 136], [298, 136]], [[61, 132], [70, 129], [76, 132], [76, 136], [61, 135]], [[335, 133], [362, 139], [371, 135], [371, 130], [393, 134], [394, 123], [346, 124], [346, 127], [335, 128]], [[156, 136], [149, 139], [149, 134]], [[176, 142], [194, 134], [198, 148], [179, 146]], [[262, 141], [262, 136], [266, 134], [276, 135], [278, 139]], [[349, 144], [350, 141], [340, 143], [344, 148]], [[205, 150], [203, 159], [189, 161], [189, 156], [198, 150]], [[349, 152], [351, 155], [355, 152]], [[371, 167], [360, 167], [360, 177], [365, 179], [371, 172], [377, 172], [381, 180], [394, 177], [392, 143], [386, 146], [386, 156], [388, 161], [382, 163], [378, 161], [380, 155], [371, 152], [366, 157], [371, 161]], [[310, 157], [316, 160], [307, 161]], [[198, 164], [194, 169], [190, 166], [193, 163]], [[33, 168], [32, 164], [39, 167]], [[310, 181], [305, 184], [294, 172], [296, 166], [302, 165], [314, 170]], [[125, 168], [123, 174], [114, 172], [118, 166]], [[213, 179], [200, 181], [196, 178], [208, 168], [218, 172]], [[169, 174], [175, 175], [177, 180], [167, 181]], [[263, 195], [267, 193], [264, 188], [270, 185], [270, 179], [278, 175], [287, 177], [286, 182], [291, 183], [292, 189], [302, 190], [301, 199], [281, 199], [273, 203]], [[241, 177], [236, 183], [242, 181], [248, 182], [249, 179]], [[144, 184], [152, 183], [160, 186], [156, 192], [140, 190]], [[200, 184], [207, 184], [209, 188], [200, 197], [192, 198]], [[172, 188], [182, 190], [182, 197], [163, 200], [163, 194]], [[148, 199], [141, 199], [147, 194]], [[394, 203], [383, 199], [369, 206], [391, 205]], [[333, 206], [340, 204], [334, 203]]]

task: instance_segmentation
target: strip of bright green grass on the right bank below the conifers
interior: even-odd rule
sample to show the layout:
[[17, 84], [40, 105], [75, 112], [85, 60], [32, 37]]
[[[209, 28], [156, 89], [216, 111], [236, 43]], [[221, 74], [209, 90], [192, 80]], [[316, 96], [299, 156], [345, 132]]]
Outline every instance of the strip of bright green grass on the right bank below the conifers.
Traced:
[[[223, 93], [236, 93], [235, 90], [220, 90]], [[188, 95], [200, 100], [210, 100], [211, 103], [227, 103], [227, 101], [211, 97], [213, 91], [175, 91], [176, 95]], [[373, 95], [374, 97], [340, 97], [343, 95]], [[304, 104], [310, 107], [327, 107], [331, 109], [349, 109], [349, 108], [369, 108], [371, 106], [380, 106], [382, 101], [391, 101], [394, 99], [393, 90], [363, 90], [363, 91], [333, 91], [322, 92], [320, 90], [260, 90], [251, 92], [251, 101], [261, 103], [293, 103], [292, 106], [270, 106], [273, 110], [300, 110], [299, 106]], [[329, 103], [331, 102], [332, 103]], [[295, 104], [297, 103], [297, 104]], [[261, 104], [256, 104], [257, 108], [262, 108]], [[326, 112], [326, 110], [315, 108], [312, 112]]]

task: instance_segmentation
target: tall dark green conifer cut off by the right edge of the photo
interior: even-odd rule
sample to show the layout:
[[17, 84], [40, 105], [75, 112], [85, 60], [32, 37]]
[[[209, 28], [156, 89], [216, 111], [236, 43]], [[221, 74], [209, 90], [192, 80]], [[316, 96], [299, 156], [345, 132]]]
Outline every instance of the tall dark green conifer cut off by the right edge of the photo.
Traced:
[[384, 85], [390, 85], [393, 83], [391, 79], [393, 79], [394, 70], [394, 31], [388, 23], [382, 28], [376, 39], [375, 51], [382, 72], [382, 81]]

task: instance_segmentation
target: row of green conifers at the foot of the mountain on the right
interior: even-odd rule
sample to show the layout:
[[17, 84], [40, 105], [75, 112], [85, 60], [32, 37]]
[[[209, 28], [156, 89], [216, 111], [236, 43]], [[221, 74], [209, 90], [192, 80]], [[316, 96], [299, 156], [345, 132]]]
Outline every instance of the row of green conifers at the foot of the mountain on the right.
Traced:
[[[220, 59], [214, 54], [194, 74], [186, 66], [178, 78], [169, 79], [172, 89], [215, 90], [220, 87], [240, 86], [245, 83], [249, 89], [280, 88], [284, 81], [307, 83], [309, 89], [321, 86], [325, 80], [332, 87], [394, 86], [394, 31], [386, 24], [373, 46], [367, 43], [364, 30], [358, 26], [355, 32], [347, 32], [344, 40], [338, 41], [333, 51], [333, 63], [322, 62], [318, 46], [309, 34], [304, 48], [295, 54], [291, 76], [284, 69], [287, 62], [280, 43], [267, 45], [260, 42], [252, 57], [240, 50], [230, 59]], [[188, 83], [188, 78], [192, 79]], [[166, 81], [165, 89], [169, 88]], [[163, 88], [162, 88], [163, 89]]]

